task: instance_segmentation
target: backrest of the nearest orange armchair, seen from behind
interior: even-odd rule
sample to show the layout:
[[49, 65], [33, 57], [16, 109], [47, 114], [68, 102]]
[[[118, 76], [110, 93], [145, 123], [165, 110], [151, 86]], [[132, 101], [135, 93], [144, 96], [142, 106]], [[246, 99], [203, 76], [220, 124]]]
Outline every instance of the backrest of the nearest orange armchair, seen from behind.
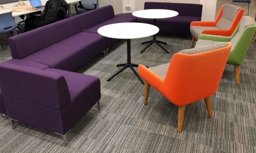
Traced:
[[174, 54], [164, 79], [165, 96], [184, 106], [214, 94], [230, 49], [231, 43], [222, 42]]

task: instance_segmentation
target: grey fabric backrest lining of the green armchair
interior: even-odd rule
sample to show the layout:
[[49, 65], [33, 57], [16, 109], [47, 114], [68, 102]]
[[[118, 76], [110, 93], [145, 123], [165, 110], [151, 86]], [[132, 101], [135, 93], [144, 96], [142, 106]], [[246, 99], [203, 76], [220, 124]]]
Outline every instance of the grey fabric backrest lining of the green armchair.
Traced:
[[252, 17], [249, 17], [249, 16], [242, 17], [237, 34], [230, 40], [230, 42], [232, 43], [231, 50], [236, 46], [236, 43], [238, 42], [239, 38], [241, 37], [244, 29], [248, 26], [254, 26], [254, 25], [255, 25], [255, 23], [254, 23]]

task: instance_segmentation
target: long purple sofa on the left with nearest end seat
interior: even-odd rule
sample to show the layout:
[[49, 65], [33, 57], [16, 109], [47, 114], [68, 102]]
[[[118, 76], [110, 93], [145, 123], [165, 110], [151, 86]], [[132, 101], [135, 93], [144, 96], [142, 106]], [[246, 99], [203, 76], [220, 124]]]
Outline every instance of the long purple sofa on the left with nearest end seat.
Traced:
[[[65, 134], [101, 98], [100, 80], [75, 71], [118, 39], [99, 27], [135, 22], [108, 5], [9, 38], [12, 58], [0, 64], [0, 113]], [[98, 102], [99, 108], [99, 102]]]

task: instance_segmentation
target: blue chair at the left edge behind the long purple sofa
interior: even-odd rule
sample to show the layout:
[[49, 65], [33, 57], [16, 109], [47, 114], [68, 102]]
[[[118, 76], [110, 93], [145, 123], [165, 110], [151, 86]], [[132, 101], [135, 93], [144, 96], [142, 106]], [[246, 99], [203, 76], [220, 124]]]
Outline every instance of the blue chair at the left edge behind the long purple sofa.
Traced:
[[[8, 46], [8, 43], [7, 43], [5, 34], [8, 32], [14, 31], [15, 29], [16, 29], [16, 23], [14, 21], [14, 18], [12, 17], [12, 12], [0, 14], [0, 34], [4, 34], [5, 42], [7, 46]], [[4, 59], [4, 54], [1, 46], [0, 46], [0, 50], [2, 52], [3, 59]]]

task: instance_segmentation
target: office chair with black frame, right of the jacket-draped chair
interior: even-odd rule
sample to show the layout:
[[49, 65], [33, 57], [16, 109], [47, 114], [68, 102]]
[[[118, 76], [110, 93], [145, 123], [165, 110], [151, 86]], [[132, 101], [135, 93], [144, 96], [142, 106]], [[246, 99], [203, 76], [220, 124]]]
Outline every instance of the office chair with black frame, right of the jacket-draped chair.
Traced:
[[[79, 5], [78, 4], [73, 4], [73, 5], [75, 6], [76, 14], [82, 14], [82, 13], [99, 8], [98, 0], [82, 0], [82, 1], [79, 1]], [[81, 8], [84, 10], [78, 10], [78, 8]]]

